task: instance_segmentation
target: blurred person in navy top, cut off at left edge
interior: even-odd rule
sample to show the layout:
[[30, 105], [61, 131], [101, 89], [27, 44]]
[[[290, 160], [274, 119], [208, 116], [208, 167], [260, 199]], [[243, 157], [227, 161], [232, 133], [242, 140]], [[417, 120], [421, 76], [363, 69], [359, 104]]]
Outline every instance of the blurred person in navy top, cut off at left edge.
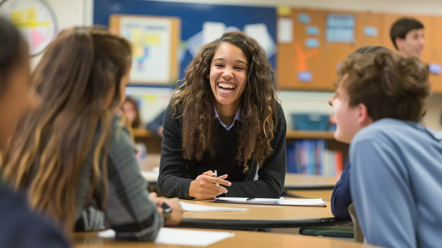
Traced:
[[[18, 120], [38, 104], [30, 84], [29, 50], [11, 23], [0, 17], [0, 151]], [[16, 167], [15, 170], [19, 170]], [[61, 228], [32, 213], [24, 195], [0, 182], [0, 247], [68, 248]]]

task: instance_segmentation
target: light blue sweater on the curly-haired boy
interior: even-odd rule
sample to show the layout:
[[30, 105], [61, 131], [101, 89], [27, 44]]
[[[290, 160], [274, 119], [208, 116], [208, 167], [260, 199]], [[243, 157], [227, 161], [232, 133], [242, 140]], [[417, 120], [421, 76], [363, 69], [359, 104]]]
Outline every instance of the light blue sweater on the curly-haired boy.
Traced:
[[394, 119], [350, 145], [351, 196], [366, 241], [388, 248], [442, 247], [442, 134]]

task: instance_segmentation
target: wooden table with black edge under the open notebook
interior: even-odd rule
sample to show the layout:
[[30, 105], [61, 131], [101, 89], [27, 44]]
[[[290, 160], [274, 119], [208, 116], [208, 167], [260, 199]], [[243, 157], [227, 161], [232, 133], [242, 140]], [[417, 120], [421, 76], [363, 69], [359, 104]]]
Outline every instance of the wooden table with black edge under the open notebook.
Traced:
[[331, 214], [330, 202], [325, 202], [327, 207], [297, 207], [215, 203], [213, 200], [181, 201], [198, 205], [248, 208], [249, 211], [220, 213], [185, 212], [180, 227], [211, 229], [298, 228], [351, 223], [351, 221], [335, 219], [333, 214]]

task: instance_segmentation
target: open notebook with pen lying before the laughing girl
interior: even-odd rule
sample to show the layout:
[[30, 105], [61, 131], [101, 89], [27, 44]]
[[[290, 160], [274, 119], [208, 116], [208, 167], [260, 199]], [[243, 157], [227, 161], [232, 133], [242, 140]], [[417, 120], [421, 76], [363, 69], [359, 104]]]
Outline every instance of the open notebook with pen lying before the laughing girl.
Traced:
[[248, 198], [238, 197], [219, 197], [215, 198], [215, 202], [220, 203], [238, 203], [238, 204], [254, 204], [254, 205], [286, 205], [286, 206], [303, 206], [303, 207], [326, 207], [322, 199], [279, 199], [272, 198]]

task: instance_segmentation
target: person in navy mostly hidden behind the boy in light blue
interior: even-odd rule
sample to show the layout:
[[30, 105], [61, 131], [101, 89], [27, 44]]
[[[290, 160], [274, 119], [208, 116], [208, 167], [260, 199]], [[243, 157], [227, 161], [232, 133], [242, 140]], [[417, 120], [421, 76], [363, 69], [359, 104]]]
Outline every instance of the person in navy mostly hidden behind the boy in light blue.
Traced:
[[[383, 46], [362, 46], [348, 55], [348, 58], [354, 57], [358, 54], [378, 54], [379, 52], [386, 50], [388, 49]], [[336, 95], [328, 100], [328, 104], [332, 106], [333, 99], [335, 97]], [[330, 119], [333, 124], [336, 124], [334, 115]], [[336, 218], [341, 220], [351, 219], [350, 214], [348, 213], [348, 206], [352, 203], [349, 178], [350, 168], [350, 163], [347, 163], [341, 174], [341, 178], [336, 183], [333, 193], [331, 194], [331, 213], [333, 213]]]

